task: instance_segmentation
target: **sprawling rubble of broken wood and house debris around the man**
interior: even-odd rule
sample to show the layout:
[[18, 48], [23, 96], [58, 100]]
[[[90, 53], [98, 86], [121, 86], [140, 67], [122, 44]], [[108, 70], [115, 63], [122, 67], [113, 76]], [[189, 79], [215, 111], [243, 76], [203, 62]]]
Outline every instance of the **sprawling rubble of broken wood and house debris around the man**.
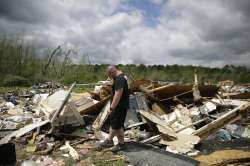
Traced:
[[[0, 96], [0, 165], [67, 165], [65, 158], [75, 164], [97, 164], [87, 153], [108, 136], [111, 83], [91, 84], [96, 85], [93, 92], [72, 92], [75, 86], [86, 85], [90, 84], [74, 83], [69, 88], [43, 84]], [[203, 141], [250, 138], [249, 86], [230, 86], [134, 81], [125, 141], [197, 156]], [[236, 97], [233, 87], [240, 89]], [[130, 161], [126, 154], [104, 160]]]

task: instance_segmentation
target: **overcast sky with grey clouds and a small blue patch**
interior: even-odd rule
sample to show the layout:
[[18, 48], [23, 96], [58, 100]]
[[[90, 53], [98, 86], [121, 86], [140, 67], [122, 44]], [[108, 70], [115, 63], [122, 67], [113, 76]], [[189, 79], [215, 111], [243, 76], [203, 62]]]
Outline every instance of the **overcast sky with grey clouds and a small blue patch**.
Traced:
[[92, 63], [250, 66], [249, 0], [0, 0], [0, 33]]

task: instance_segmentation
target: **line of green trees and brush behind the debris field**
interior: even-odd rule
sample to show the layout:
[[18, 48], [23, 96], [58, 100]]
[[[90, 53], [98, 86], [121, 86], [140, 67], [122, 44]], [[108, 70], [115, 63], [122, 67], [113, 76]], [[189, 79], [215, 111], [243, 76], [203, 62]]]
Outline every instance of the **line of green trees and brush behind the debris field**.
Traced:
[[[90, 83], [107, 78], [107, 64], [91, 64], [87, 56], [75, 64], [72, 49], [62, 46], [44, 52], [39, 56], [36, 49], [22, 39], [0, 38], [0, 86], [30, 86], [45, 81]], [[135, 65], [119, 64], [117, 67], [130, 79], [147, 79], [193, 82], [194, 70], [200, 83], [214, 84], [223, 80], [249, 83], [250, 69], [245, 66], [226, 65], [223, 68], [209, 68], [192, 65]]]

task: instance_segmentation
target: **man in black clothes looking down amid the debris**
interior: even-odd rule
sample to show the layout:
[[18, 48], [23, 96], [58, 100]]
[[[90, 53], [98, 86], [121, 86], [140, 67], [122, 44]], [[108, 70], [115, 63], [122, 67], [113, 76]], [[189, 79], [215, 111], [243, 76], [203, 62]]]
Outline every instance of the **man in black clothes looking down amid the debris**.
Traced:
[[111, 104], [109, 110], [109, 138], [100, 144], [102, 148], [114, 146], [113, 138], [117, 136], [118, 144], [111, 150], [113, 152], [126, 148], [124, 143], [124, 121], [129, 109], [128, 82], [125, 75], [114, 66], [108, 67], [108, 76], [113, 79]]

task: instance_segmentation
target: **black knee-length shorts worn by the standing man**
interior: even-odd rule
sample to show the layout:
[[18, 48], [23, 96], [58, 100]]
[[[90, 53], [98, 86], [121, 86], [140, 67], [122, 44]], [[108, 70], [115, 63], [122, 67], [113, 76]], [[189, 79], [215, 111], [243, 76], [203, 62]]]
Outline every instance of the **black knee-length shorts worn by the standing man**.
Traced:
[[127, 115], [127, 108], [116, 108], [109, 115], [110, 126], [114, 130], [124, 128], [124, 122]]

